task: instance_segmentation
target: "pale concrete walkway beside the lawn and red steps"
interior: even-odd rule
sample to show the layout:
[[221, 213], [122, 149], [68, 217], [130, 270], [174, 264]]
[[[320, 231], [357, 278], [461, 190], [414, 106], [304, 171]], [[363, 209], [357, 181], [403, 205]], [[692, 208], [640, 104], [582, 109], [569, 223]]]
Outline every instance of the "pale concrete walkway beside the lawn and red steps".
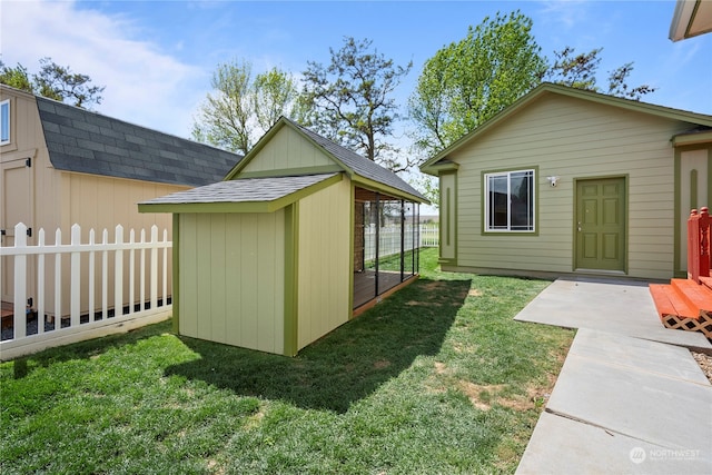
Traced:
[[516, 320], [578, 328], [517, 474], [712, 474], [712, 385], [646, 285], [560, 279]]

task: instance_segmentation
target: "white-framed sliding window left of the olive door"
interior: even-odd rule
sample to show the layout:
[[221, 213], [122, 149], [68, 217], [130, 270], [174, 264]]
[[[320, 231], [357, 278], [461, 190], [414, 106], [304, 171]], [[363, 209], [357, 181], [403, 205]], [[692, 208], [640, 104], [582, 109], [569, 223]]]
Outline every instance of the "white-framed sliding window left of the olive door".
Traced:
[[534, 231], [534, 170], [485, 174], [485, 231]]

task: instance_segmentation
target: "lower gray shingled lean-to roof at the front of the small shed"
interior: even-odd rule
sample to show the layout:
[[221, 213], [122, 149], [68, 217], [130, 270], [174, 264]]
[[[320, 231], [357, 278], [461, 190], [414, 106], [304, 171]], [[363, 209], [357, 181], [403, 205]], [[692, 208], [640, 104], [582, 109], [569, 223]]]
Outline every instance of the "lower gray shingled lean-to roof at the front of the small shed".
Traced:
[[178, 191], [154, 198], [140, 205], [182, 205], [195, 202], [257, 202], [274, 201], [303, 190], [337, 174], [298, 177], [246, 178]]

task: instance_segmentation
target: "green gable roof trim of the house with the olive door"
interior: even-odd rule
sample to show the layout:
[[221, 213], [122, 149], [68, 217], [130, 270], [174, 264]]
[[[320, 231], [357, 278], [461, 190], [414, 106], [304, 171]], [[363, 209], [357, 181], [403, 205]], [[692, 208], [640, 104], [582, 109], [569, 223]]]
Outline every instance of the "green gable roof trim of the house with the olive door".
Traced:
[[699, 125], [703, 127], [712, 127], [712, 116], [703, 113], [689, 112], [684, 110], [668, 108], [663, 106], [655, 106], [646, 102], [640, 102], [630, 99], [622, 99], [613, 96], [602, 95], [599, 92], [570, 88], [561, 85], [543, 83], [533, 89], [531, 92], [515, 101], [513, 105], [497, 113], [492, 119], [487, 120], [482, 126], [472, 130], [469, 133], [463, 136], [459, 140], [452, 144], [434, 157], [426, 160], [421, 165], [421, 170], [426, 174], [436, 175], [439, 169], [456, 168], [457, 165], [448, 160], [448, 157], [461, 149], [467, 144], [478, 140], [479, 137], [485, 135], [488, 130], [505, 122], [514, 115], [530, 106], [536, 100], [540, 100], [547, 95], [560, 95], [565, 97], [572, 97], [584, 101], [594, 103], [606, 105], [611, 107], [617, 107], [629, 111], [635, 111], [640, 113], [647, 113], [654, 117], [666, 118], [670, 120], [678, 120], [683, 122], [690, 122], [692, 125]]

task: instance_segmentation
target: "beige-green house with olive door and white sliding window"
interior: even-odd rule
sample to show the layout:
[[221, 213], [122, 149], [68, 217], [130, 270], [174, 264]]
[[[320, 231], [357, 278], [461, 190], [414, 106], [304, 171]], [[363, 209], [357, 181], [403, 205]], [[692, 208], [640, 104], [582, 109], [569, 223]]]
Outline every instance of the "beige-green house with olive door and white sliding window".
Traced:
[[712, 202], [712, 116], [544, 83], [421, 169], [444, 270], [669, 279]]

